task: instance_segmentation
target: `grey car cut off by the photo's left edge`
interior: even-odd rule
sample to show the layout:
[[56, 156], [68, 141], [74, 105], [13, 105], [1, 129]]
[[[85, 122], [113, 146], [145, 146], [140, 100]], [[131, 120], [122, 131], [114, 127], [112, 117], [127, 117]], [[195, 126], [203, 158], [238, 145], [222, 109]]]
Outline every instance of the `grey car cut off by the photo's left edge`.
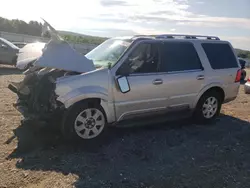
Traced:
[[0, 64], [15, 65], [19, 48], [10, 41], [0, 38]]

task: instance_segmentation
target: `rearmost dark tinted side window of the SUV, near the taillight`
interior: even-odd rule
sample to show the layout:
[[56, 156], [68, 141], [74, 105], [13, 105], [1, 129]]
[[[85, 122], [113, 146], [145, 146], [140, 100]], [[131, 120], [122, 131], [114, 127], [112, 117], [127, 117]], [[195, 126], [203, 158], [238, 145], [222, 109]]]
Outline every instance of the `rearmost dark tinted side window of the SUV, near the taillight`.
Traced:
[[233, 50], [228, 44], [203, 43], [202, 47], [213, 69], [238, 67]]

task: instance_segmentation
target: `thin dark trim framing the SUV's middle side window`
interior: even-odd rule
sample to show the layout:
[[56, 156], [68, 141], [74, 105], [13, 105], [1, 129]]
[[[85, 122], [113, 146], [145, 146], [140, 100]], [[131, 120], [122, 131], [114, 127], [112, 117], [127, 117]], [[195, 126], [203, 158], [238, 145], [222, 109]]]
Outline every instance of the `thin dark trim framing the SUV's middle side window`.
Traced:
[[[164, 73], [168, 73], [168, 74], [180, 74], [180, 73], [189, 73], [189, 72], [201, 72], [201, 71], [204, 71], [204, 67], [202, 65], [202, 62], [201, 62], [201, 58], [198, 54], [198, 51], [196, 50], [196, 47], [194, 45], [194, 43], [190, 42], [190, 41], [162, 41], [162, 45], [166, 44], [166, 43], [186, 43], [186, 44], [191, 44], [195, 50], [195, 54], [199, 60], [199, 64], [200, 64], [200, 69], [190, 69], [190, 70], [180, 70], [180, 71], [164, 71]], [[161, 51], [160, 51], [160, 54], [161, 54]], [[162, 59], [160, 58], [160, 64], [159, 64], [159, 67], [162, 63]], [[160, 72], [160, 70], [158, 70]], [[163, 72], [162, 72], [163, 73]]]

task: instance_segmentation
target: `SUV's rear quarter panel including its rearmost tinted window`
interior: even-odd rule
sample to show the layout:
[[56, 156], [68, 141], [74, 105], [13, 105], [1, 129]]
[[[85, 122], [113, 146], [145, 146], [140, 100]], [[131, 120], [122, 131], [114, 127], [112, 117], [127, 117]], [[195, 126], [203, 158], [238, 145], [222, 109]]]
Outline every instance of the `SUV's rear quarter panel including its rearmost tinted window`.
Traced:
[[235, 98], [239, 91], [239, 81], [236, 82], [240, 70], [236, 53], [228, 42], [206, 41], [201, 44], [207, 56], [210, 73], [209, 83], [220, 83], [225, 93], [225, 100]]

